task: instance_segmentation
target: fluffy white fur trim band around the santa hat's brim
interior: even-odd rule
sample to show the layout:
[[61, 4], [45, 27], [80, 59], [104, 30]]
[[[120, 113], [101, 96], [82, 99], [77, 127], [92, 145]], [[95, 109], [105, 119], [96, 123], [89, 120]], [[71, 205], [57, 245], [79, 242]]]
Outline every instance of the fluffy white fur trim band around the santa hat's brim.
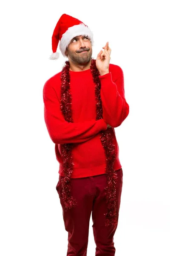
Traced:
[[70, 44], [71, 39], [79, 35], [88, 36], [93, 46], [94, 40], [93, 40], [93, 33], [91, 32], [91, 30], [87, 26], [85, 26], [83, 23], [79, 25], [74, 25], [68, 28], [68, 30], [62, 35], [62, 38], [60, 40], [60, 51], [62, 52], [62, 55], [64, 57], [66, 56], [65, 51], [66, 51], [66, 48], [68, 47], [68, 44]]

